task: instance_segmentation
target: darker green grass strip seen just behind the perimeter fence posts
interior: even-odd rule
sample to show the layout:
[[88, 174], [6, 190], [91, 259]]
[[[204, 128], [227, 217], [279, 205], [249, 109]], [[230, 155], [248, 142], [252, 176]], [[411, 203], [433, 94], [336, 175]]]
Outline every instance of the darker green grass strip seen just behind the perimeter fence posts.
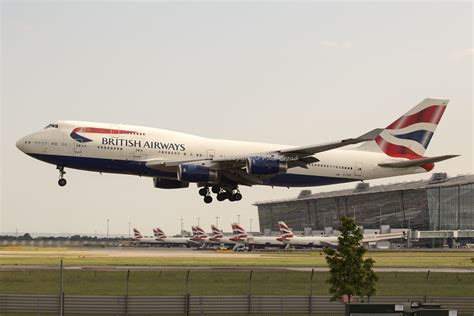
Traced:
[[[328, 295], [328, 272], [315, 272], [313, 294]], [[377, 295], [474, 296], [474, 273], [377, 273]], [[254, 295], [309, 295], [311, 272], [254, 271]], [[125, 295], [126, 271], [64, 272], [66, 294]], [[130, 295], [184, 295], [186, 271], [132, 271]], [[191, 271], [191, 295], [246, 295], [249, 272]], [[58, 271], [0, 271], [0, 293], [57, 294]]]

